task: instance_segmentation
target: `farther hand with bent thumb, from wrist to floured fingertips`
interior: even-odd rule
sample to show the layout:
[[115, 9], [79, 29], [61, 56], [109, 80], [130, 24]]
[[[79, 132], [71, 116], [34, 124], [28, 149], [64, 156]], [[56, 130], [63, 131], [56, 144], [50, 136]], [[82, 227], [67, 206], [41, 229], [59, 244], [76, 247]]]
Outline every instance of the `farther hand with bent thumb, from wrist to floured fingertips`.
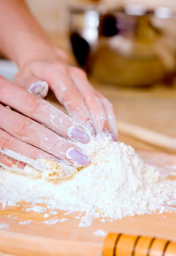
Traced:
[[112, 104], [91, 86], [83, 70], [67, 65], [57, 54], [50, 56], [27, 63], [14, 83], [40, 97], [46, 96], [49, 85], [75, 121], [90, 129], [92, 134], [103, 132], [117, 141]]

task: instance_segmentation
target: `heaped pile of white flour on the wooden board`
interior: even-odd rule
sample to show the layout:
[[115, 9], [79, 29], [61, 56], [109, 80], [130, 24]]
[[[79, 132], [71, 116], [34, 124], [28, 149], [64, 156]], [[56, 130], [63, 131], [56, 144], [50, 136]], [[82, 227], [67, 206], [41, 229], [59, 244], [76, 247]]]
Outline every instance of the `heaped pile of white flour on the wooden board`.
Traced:
[[81, 146], [91, 164], [69, 178], [31, 178], [0, 168], [3, 207], [18, 205], [21, 200], [33, 205], [45, 203], [50, 209], [84, 212], [80, 221], [91, 223], [91, 218], [98, 217], [119, 219], [155, 210], [162, 213], [163, 205], [172, 204], [172, 182], [144, 164], [131, 146], [100, 136], [92, 136], [89, 144]]

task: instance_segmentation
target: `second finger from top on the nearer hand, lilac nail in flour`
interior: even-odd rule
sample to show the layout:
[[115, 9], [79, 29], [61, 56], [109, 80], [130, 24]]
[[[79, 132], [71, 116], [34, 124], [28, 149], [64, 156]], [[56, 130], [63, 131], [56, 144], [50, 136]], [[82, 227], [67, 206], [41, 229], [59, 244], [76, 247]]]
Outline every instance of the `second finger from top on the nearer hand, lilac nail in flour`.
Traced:
[[[0, 105], [0, 128], [17, 139], [36, 146], [75, 167], [90, 163], [82, 149], [39, 123]], [[16, 157], [15, 157], [16, 158]], [[17, 159], [17, 158], [16, 158]]]

